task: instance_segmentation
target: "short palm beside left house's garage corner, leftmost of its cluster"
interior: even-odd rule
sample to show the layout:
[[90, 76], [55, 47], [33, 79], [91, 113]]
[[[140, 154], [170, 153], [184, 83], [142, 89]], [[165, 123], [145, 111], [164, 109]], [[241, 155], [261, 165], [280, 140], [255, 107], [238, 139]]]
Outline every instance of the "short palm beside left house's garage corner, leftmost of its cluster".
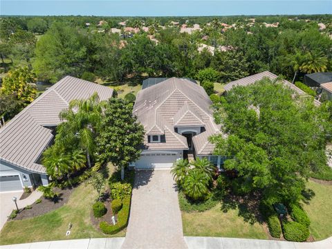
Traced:
[[42, 163], [46, 167], [47, 174], [53, 178], [62, 178], [68, 175], [71, 169], [71, 158], [55, 145], [44, 151]]

